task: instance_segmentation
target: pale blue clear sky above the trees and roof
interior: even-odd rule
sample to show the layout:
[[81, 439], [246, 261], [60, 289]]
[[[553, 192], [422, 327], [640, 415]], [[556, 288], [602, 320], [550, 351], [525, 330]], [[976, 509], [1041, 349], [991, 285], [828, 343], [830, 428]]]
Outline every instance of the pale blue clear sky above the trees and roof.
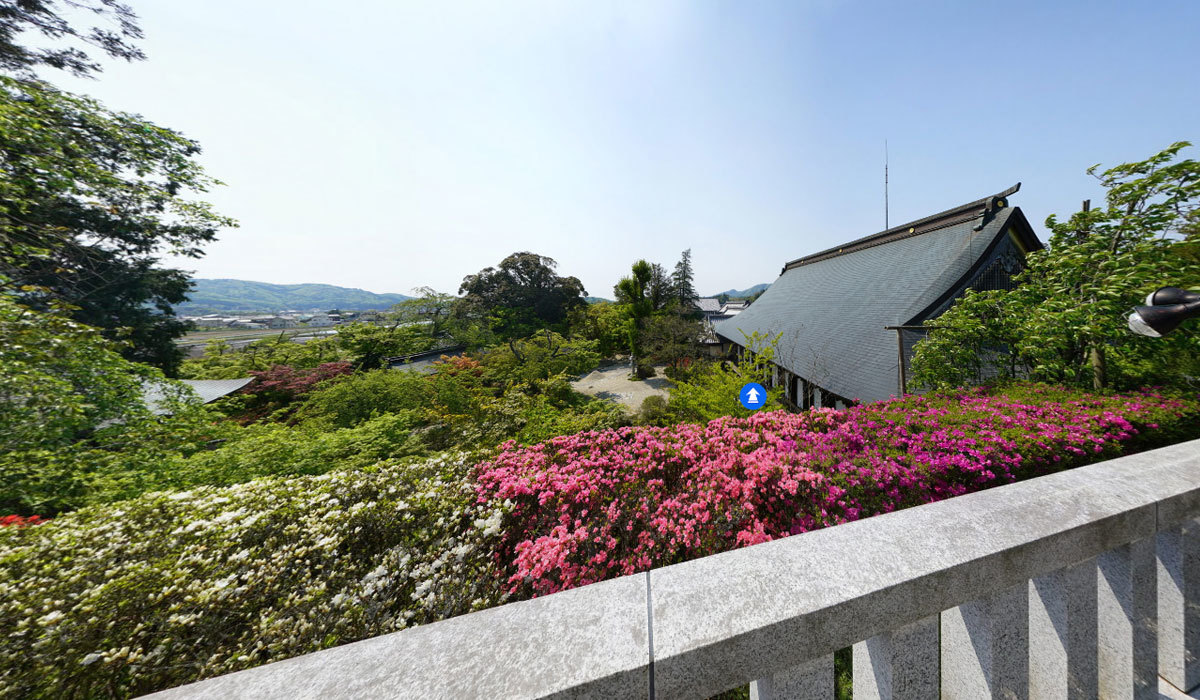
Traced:
[[[1200, 139], [1200, 2], [130, 0], [149, 60], [52, 76], [196, 138], [241, 222], [200, 277], [456, 292], [529, 250], [696, 286]], [[1188, 151], [1195, 157], [1195, 149]]]

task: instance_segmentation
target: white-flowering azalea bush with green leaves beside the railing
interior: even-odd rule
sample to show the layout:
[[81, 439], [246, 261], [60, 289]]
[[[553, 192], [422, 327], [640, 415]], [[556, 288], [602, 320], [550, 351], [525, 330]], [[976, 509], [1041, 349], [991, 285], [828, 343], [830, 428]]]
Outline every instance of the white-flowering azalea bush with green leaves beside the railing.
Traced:
[[0, 528], [0, 696], [128, 696], [503, 602], [468, 454]]

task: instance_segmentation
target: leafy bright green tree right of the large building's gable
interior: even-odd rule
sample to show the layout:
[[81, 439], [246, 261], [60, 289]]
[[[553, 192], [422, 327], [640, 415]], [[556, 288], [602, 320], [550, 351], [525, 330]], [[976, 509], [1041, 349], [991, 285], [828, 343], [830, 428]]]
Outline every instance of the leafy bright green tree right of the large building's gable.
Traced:
[[[1116, 166], [1097, 178], [1106, 207], [1050, 216], [1050, 249], [1028, 256], [1010, 292], [970, 293], [929, 325], [913, 379], [954, 387], [1024, 377], [1093, 389], [1180, 385], [1200, 377], [1200, 335], [1132, 334], [1132, 307], [1164, 286], [1200, 285], [1200, 261], [1181, 235], [1200, 221], [1200, 163], [1189, 144]], [[1098, 166], [1088, 169], [1096, 174]]]

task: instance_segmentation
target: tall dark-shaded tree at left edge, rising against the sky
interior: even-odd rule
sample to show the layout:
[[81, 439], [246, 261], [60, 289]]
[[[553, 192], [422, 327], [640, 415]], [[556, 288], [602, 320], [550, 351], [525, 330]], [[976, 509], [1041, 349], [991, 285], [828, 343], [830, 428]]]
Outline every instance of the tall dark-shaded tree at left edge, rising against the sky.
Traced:
[[186, 330], [172, 306], [187, 275], [163, 252], [199, 257], [234, 226], [186, 193], [218, 184], [199, 145], [140, 116], [32, 79], [0, 77], [0, 275], [26, 305], [70, 304], [73, 317], [127, 339], [131, 359], [173, 372]]

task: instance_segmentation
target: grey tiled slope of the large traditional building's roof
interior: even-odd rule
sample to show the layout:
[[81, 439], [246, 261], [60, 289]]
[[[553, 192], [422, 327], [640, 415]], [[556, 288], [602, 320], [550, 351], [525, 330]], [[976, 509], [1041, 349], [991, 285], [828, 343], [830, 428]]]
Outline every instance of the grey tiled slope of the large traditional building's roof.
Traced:
[[745, 342], [739, 331], [782, 331], [780, 366], [847, 399], [887, 399], [896, 393], [898, 358], [895, 331], [884, 327], [907, 323], [944, 294], [1018, 211], [1000, 209], [978, 232], [976, 216], [785, 269], [715, 331], [738, 343]]

